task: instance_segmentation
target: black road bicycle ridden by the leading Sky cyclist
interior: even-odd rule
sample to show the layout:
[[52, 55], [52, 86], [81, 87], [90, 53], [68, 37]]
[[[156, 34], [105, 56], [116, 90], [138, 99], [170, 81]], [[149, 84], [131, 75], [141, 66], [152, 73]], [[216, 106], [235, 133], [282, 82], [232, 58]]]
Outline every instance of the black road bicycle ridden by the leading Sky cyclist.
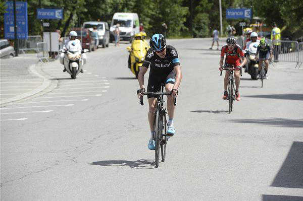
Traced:
[[[168, 123], [167, 123], [167, 111], [165, 107], [165, 101], [163, 96], [171, 96], [172, 93], [163, 93], [164, 84], [161, 85], [161, 92], [146, 92], [143, 95], [153, 95], [157, 96], [157, 108], [155, 111], [154, 120], [154, 139], [156, 142], [155, 156], [156, 156], [156, 168], [159, 166], [160, 160], [160, 148], [162, 162], [165, 161], [166, 156], [166, 145], [169, 136], [166, 135]], [[143, 105], [143, 96], [140, 98], [140, 104]], [[174, 97], [174, 105], [176, 105], [176, 97]]]

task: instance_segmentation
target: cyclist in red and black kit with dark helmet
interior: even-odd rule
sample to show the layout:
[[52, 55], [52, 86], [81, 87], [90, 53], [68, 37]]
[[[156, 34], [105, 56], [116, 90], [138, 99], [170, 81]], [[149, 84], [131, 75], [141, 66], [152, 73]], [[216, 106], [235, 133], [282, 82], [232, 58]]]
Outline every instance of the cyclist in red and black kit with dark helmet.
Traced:
[[[235, 66], [235, 83], [236, 83], [236, 100], [240, 100], [239, 86], [240, 86], [240, 70], [246, 64], [246, 58], [242, 52], [242, 49], [239, 45], [236, 44], [236, 39], [234, 37], [229, 37], [226, 39], [225, 45], [221, 49], [221, 59], [220, 59], [220, 71], [222, 70], [224, 55], [226, 64], [233, 64]], [[242, 60], [242, 62], [241, 62]], [[227, 84], [228, 84], [229, 71], [225, 72], [224, 77], [224, 95], [223, 99], [227, 98]]]

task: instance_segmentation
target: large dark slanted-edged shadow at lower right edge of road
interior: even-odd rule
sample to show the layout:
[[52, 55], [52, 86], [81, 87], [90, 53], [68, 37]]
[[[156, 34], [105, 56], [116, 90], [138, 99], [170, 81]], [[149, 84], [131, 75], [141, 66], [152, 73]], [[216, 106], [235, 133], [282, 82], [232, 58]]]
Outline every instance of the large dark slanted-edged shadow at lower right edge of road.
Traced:
[[303, 188], [303, 142], [292, 143], [288, 155], [271, 186]]

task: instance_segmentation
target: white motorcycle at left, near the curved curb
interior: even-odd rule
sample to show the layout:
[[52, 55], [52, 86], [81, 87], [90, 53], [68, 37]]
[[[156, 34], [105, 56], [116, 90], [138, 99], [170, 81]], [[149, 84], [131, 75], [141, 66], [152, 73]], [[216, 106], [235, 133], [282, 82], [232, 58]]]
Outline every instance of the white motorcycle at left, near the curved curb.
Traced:
[[85, 52], [88, 51], [81, 50], [81, 45], [74, 40], [69, 41], [65, 49], [60, 50], [60, 63], [64, 65], [64, 72], [67, 71], [72, 79], [76, 79], [80, 72], [83, 73], [82, 68], [87, 60]]

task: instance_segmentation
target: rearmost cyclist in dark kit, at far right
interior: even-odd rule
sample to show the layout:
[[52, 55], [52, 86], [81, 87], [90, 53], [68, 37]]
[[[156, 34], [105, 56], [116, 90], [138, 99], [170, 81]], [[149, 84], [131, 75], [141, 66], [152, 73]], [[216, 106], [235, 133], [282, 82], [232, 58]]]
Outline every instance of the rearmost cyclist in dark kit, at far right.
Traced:
[[[260, 40], [260, 44], [257, 47], [257, 52], [256, 52], [257, 59], [258, 59], [258, 53], [259, 53], [259, 59], [260, 58], [265, 59], [265, 79], [267, 79], [268, 78], [267, 72], [268, 72], [268, 66], [269, 66], [268, 60], [269, 59], [271, 60], [273, 58], [273, 52], [272, 52], [272, 49], [269, 46], [269, 44], [266, 43], [265, 38], [262, 38]], [[259, 60], [259, 66], [258, 66], [259, 71], [258, 72], [259, 72], [260, 78], [262, 76], [262, 75], [260, 75], [261, 74], [261, 65], [262, 65], [262, 60]]]

